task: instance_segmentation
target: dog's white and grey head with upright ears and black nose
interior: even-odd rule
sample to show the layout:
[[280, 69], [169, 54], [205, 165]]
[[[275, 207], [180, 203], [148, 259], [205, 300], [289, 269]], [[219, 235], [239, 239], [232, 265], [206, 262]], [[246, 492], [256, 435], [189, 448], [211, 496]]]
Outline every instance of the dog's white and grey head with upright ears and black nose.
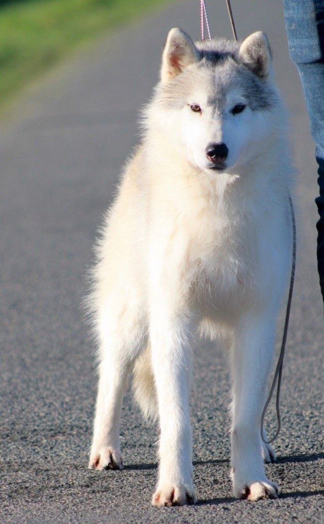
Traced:
[[259, 31], [240, 43], [194, 42], [181, 29], [171, 29], [154, 103], [155, 122], [193, 165], [236, 171], [262, 154], [267, 137], [280, 126], [266, 36]]

